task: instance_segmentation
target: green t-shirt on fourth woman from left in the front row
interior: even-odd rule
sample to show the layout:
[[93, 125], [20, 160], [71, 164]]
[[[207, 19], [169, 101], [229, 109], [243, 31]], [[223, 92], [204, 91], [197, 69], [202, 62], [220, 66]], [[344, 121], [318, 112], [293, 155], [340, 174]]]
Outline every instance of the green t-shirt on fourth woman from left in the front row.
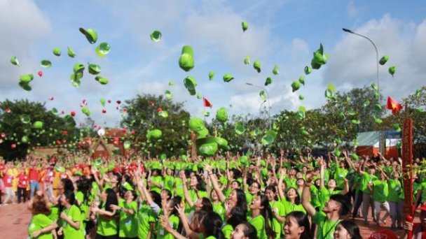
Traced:
[[137, 203], [135, 201], [126, 204], [123, 202], [122, 207], [127, 210], [133, 210], [133, 215], [120, 212], [120, 229], [118, 236], [121, 238], [136, 238], [137, 237]]

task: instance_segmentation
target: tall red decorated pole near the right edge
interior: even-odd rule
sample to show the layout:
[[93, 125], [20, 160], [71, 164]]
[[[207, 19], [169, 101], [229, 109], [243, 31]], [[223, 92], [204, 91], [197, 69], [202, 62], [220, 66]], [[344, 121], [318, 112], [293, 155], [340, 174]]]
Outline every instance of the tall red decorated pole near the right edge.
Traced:
[[[404, 212], [413, 218], [413, 119], [405, 119], [402, 129], [402, 181], [404, 183]], [[413, 237], [413, 231], [407, 231], [407, 238]]]

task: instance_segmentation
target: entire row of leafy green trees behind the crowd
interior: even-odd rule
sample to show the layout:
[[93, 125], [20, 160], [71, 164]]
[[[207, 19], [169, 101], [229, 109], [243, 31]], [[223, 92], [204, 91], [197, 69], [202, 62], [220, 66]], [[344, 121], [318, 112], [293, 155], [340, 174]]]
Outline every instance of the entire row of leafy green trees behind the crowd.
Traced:
[[[350, 148], [357, 145], [357, 133], [394, 129], [395, 124], [402, 125], [404, 119], [411, 117], [415, 143], [426, 143], [424, 87], [404, 98], [401, 102], [404, 110], [396, 115], [386, 112], [383, 97], [372, 87], [331, 93], [321, 108], [282, 110], [271, 117], [266, 112], [233, 115], [225, 124], [212, 119], [206, 127], [210, 135], [228, 140], [228, 150], [233, 152], [247, 147], [274, 152], [286, 149], [297, 154], [312, 147]], [[184, 103], [145, 94], [126, 100], [122, 107], [126, 113], [121, 126], [132, 132], [123, 140], [128, 140], [136, 150], [170, 156], [185, 154], [191, 147], [194, 137], [188, 129], [191, 115], [184, 109]], [[66, 145], [70, 151], [78, 151], [81, 138], [95, 136], [90, 119], [84, 126], [76, 127], [70, 115], [58, 115], [55, 110], [47, 110], [43, 103], [6, 100], [0, 102], [0, 109], [0, 155], [7, 159], [25, 157], [35, 146]], [[30, 118], [29, 122], [25, 116]], [[43, 122], [43, 126], [36, 127], [36, 121]], [[161, 138], [149, 137], [149, 131], [154, 129], [162, 131]], [[268, 130], [275, 131], [277, 136], [272, 144], [262, 145], [261, 138]]]

